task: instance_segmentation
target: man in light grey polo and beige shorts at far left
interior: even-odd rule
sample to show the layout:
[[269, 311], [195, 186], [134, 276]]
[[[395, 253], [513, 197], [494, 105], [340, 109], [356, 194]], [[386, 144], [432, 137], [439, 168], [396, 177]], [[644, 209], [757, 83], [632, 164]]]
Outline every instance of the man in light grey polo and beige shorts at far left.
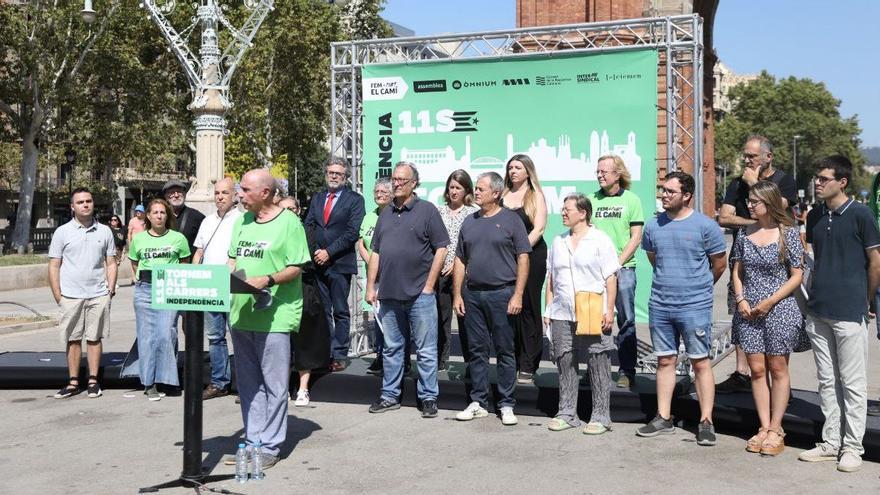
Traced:
[[55, 302], [61, 306], [58, 325], [62, 342], [67, 346], [70, 381], [56, 399], [80, 393], [79, 366], [82, 339], [88, 343], [91, 398], [100, 397], [98, 366], [101, 363], [101, 339], [110, 333], [110, 298], [116, 292], [116, 244], [106, 225], [95, 220], [95, 203], [86, 188], [70, 195], [73, 219], [55, 229], [49, 245], [49, 286]]

